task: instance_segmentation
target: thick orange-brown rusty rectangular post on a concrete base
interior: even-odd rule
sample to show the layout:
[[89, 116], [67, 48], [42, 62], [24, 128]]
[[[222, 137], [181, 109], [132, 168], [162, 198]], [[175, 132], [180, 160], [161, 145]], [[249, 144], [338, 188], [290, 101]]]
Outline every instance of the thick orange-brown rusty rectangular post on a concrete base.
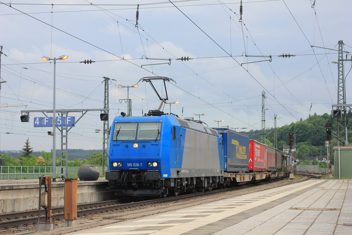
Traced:
[[77, 223], [77, 178], [65, 178], [64, 219], [65, 227]]

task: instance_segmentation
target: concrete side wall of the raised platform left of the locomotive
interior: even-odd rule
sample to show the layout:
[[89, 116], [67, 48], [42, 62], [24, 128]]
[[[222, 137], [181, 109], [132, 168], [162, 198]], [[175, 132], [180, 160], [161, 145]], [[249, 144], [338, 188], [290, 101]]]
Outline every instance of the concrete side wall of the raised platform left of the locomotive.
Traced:
[[[14, 180], [13, 180], [14, 181]], [[15, 182], [0, 184], [0, 214], [11, 212], [37, 210], [39, 199], [39, 183], [33, 180], [21, 180], [21, 184]], [[78, 181], [77, 203], [99, 202], [113, 200], [115, 195], [108, 191], [108, 181]], [[64, 205], [64, 182], [52, 182], [51, 202], [52, 207]], [[44, 192], [44, 186], [42, 186]]]

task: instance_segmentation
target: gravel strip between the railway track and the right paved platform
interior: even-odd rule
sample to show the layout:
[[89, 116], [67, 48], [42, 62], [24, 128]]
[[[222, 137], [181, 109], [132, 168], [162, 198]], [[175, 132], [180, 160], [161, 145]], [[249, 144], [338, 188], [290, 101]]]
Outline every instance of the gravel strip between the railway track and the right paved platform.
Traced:
[[[94, 227], [99, 227], [102, 225], [108, 225], [120, 221], [126, 221], [130, 219], [136, 219], [136, 218], [141, 218], [149, 215], [155, 215], [155, 214], [160, 214], [163, 212], [168, 212], [168, 211], [173, 211], [173, 210], [178, 210], [178, 209], [183, 209], [183, 208], [188, 208], [190, 206], [195, 206], [195, 205], [200, 205], [200, 204], [205, 204], [209, 202], [214, 202], [222, 199], [227, 199], [231, 197], [236, 197], [248, 193], [253, 193], [253, 192], [258, 192], [258, 191], [263, 191], [263, 190], [268, 190], [270, 188], [276, 188], [284, 185], [289, 185], [293, 183], [298, 183], [303, 180], [307, 179], [307, 177], [301, 178], [301, 179], [283, 179], [279, 181], [275, 181], [272, 183], [268, 184], [263, 184], [259, 186], [252, 186], [249, 188], [242, 188], [234, 191], [227, 191], [227, 192], [219, 192], [219, 193], [214, 193], [210, 195], [204, 195], [204, 196], [196, 196], [192, 198], [185, 198], [185, 199], [179, 199], [179, 200], [174, 200], [171, 202], [165, 202], [165, 203], [158, 203], [158, 204], [150, 204], [150, 205], [144, 205], [144, 206], [138, 206], [135, 208], [128, 208], [128, 209], [123, 209], [119, 210], [118, 212], [104, 212], [101, 215], [96, 214], [96, 215], [89, 215], [86, 217], [80, 217], [77, 219], [77, 225], [73, 227], [64, 227], [64, 220], [61, 219], [59, 221], [55, 221], [54, 223], [54, 230], [52, 231], [38, 231], [37, 233], [32, 233], [34, 235], [42, 235], [42, 234], [48, 234], [48, 235], [61, 235], [61, 234], [67, 234], [75, 231], [80, 231], [88, 228], [94, 228]], [[36, 225], [28, 225], [27, 227], [19, 227], [19, 228], [10, 228], [7, 230], [1, 230], [0, 229], [0, 234], [1, 235], [7, 235], [7, 234], [15, 234], [15, 235], [21, 235], [24, 233], [28, 233], [31, 231], [36, 230]]]

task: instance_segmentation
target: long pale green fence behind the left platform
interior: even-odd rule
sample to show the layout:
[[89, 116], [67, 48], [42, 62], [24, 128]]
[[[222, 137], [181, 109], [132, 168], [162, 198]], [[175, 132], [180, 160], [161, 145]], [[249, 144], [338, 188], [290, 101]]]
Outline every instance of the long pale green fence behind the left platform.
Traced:
[[[78, 178], [78, 166], [68, 167], [68, 177]], [[102, 175], [102, 167], [96, 167]], [[56, 167], [56, 178], [59, 178], [61, 168]], [[41, 175], [52, 175], [49, 166], [0, 166], [0, 180], [39, 179]]]

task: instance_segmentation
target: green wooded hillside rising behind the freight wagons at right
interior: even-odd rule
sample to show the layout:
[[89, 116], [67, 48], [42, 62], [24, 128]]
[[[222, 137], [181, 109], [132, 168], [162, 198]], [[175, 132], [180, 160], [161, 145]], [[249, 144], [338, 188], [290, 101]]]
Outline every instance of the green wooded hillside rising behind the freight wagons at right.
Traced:
[[[324, 113], [317, 115], [314, 113], [307, 119], [301, 119], [298, 122], [293, 122], [289, 125], [284, 125], [276, 128], [277, 149], [282, 150], [282, 146], [288, 145], [288, 133], [292, 131], [296, 138], [296, 151], [291, 155], [298, 157], [300, 160], [306, 160], [311, 156], [326, 155], [326, 129], [327, 122], [332, 124], [332, 140], [331, 146], [337, 146], [336, 131], [337, 119], [332, 117], [332, 114]], [[352, 112], [347, 113], [347, 139], [348, 143], [352, 142], [351, 126]], [[249, 135], [251, 139], [260, 141], [261, 130], [240, 131], [243, 134]], [[274, 128], [265, 130], [266, 144], [274, 146]], [[332, 148], [330, 148], [332, 150]], [[332, 153], [332, 152], [331, 152]], [[330, 153], [330, 155], [331, 155]]]

